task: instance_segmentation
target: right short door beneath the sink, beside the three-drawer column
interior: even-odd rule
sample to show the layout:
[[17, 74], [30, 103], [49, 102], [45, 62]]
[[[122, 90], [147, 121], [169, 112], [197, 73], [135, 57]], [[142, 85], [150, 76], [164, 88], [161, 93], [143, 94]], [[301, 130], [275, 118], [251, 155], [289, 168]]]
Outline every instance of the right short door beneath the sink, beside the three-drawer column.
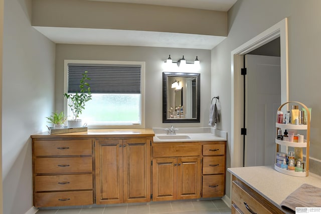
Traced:
[[201, 158], [178, 158], [177, 199], [201, 197]]

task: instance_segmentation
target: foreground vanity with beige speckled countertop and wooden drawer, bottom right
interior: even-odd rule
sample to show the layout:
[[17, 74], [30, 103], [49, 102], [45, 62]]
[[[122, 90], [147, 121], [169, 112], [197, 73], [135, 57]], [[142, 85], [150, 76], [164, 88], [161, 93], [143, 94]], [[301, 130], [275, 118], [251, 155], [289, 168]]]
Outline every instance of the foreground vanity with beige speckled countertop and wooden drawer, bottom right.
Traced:
[[296, 177], [273, 166], [228, 168], [232, 174], [232, 213], [286, 213], [281, 203], [303, 183], [321, 188], [321, 177], [309, 173]]

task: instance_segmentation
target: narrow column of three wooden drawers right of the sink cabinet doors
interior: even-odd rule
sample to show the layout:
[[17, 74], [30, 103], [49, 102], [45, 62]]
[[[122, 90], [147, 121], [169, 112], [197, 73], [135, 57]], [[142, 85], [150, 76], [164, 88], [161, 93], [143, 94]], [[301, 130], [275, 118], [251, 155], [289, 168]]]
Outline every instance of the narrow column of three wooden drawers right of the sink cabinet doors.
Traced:
[[226, 142], [202, 142], [202, 197], [225, 194]]

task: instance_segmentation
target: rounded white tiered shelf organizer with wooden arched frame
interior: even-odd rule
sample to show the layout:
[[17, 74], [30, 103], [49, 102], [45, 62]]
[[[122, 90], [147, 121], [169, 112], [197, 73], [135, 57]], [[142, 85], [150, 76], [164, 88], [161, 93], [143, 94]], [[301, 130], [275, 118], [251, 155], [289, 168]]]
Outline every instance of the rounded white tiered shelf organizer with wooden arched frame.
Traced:
[[[283, 169], [281, 167], [278, 167], [276, 165], [276, 161], [274, 163], [274, 169], [278, 172], [281, 172], [283, 174], [288, 174], [292, 176], [297, 176], [297, 177], [306, 177], [308, 176], [309, 172], [309, 146], [310, 146], [310, 112], [308, 108], [300, 102], [296, 101], [290, 101], [283, 103], [280, 105], [280, 107], [277, 109], [278, 111], [281, 111], [282, 107], [285, 106], [286, 104], [289, 103], [296, 103], [301, 105], [305, 111], [307, 112], [307, 120], [306, 120], [306, 125], [293, 125], [293, 124], [282, 124], [282, 123], [276, 123], [276, 127], [282, 129], [283, 131], [286, 130], [305, 130], [306, 131], [306, 139], [303, 140], [303, 143], [297, 143], [297, 142], [289, 142], [289, 141], [284, 141], [284, 140], [278, 140], [275, 138], [275, 143], [276, 143], [276, 153], [281, 151], [281, 146], [286, 147], [286, 153], [288, 152], [288, 147], [302, 147], [305, 148], [305, 171], [304, 172], [296, 172], [296, 171], [290, 171], [287, 169]], [[277, 131], [276, 131], [277, 135]], [[275, 157], [277, 156], [275, 153]], [[304, 156], [304, 154], [303, 154]]]

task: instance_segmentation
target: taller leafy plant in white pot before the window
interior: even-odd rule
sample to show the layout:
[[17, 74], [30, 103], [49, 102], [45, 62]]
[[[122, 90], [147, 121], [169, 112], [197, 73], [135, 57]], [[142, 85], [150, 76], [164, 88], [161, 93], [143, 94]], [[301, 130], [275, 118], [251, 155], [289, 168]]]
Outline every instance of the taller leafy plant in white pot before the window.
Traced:
[[87, 80], [90, 80], [90, 78], [88, 77], [87, 73], [88, 71], [85, 71], [82, 74], [79, 85], [80, 92], [76, 92], [75, 94], [64, 94], [64, 96], [68, 99], [68, 106], [73, 113], [73, 119], [68, 120], [68, 128], [79, 128], [83, 126], [82, 120], [77, 118], [85, 109], [85, 103], [91, 100], [90, 87], [89, 83], [87, 83]]

